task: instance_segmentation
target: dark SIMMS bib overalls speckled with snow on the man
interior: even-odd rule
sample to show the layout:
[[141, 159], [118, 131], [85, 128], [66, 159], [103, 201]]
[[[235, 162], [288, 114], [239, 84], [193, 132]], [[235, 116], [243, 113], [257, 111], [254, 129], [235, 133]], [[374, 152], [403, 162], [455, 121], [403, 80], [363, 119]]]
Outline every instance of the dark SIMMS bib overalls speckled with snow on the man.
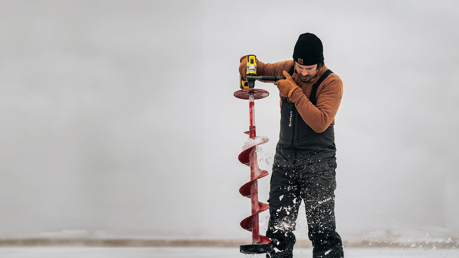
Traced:
[[[336, 146], [333, 127], [317, 133], [296, 107], [282, 98], [280, 135], [269, 191], [270, 219], [266, 235], [273, 240], [273, 258], [293, 257], [302, 201], [313, 257], [343, 257], [335, 224]], [[269, 257], [269, 256], [267, 256]]]

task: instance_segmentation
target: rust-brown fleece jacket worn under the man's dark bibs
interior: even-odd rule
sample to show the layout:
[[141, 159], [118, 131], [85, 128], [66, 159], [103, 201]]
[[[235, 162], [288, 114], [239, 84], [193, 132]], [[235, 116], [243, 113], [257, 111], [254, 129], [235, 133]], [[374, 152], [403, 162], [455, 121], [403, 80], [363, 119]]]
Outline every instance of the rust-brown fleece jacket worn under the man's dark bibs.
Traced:
[[[246, 56], [242, 56], [239, 72], [244, 77], [246, 63]], [[263, 63], [257, 60], [257, 76], [284, 77], [282, 72], [288, 72], [293, 64], [293, 60], [275, 63]], [[325, 131], [329, 126], [335, 124], [335, 115], [343, 95], [343, 83], [341, 78], [335, 73], [332, 73], [319, 85], [316, 93], [316, 105], [314, 106], [313, 103], [309, 101], [309, 95], [311, 95], [313, 84], [317, 82], [327, 69], [326, 66], [320, 68], [319, 72], [308, 82], [303, 82], [295, 70], [292, 77], [300, 88], [293, 90], [291, 97], [287, 98], [287, 102], [294, 103], [303, 120], [318, 133]], [[280, 103], [282, 105], [282, 101]]]

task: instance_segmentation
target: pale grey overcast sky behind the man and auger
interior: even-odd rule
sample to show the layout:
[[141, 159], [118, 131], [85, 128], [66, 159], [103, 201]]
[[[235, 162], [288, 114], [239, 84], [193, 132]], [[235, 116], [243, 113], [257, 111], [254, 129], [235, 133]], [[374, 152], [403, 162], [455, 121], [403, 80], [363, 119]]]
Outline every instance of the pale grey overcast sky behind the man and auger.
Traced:
[[[248, 130], [248, 103], [233, 96], [239, 58], [291, 60], [305, 32], [322, 40], [344, 83], [341, 236], [457, 232], [458, 7], [0, 0], [0, 236], [249, 238], [239, 227], [250, 213], [238, 193], [250, 177], [237, 160]], [[270, 173], [278, 91], [256, 87], [270, 92], [255, 102], [257, 135], [270, 139], [260, 167]], [[269, 177], [260, 179], [261, 201], [268, 191]]]

